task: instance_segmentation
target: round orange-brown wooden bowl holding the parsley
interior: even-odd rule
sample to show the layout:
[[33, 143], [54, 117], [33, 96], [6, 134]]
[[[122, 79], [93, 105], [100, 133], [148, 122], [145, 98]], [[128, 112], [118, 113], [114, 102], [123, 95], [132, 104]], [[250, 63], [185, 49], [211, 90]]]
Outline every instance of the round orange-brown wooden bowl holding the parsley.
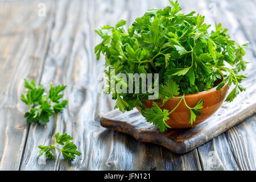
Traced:
[[[222, 102], [225, 100], [226, 94], [228, 93], [228, 84], [224, 85], [220, 90], [216, 90], [217, 86], [204, 92], [193, 93], [185, 95], [185, 101], [189, 107], [194, 107], [197, 102], [204, 100], [203, 109], [201, 109], [201, 115], [196, 117], [196, 121], [193, 125], [189, 123], [189, 118], [191, 117], [190, 110], [185, 106], [184, 101], [176, 108], [176, 110], [171, 113], [168, 117], [170, 118], [166, 123], [172, 129], [184, 129], [188, 127], [195, 127], [199, 123], [205, 121], [209, 118], [218, 108], [221, 106]], [[168, 109], [171, 111], [178, 104], [180, 98], [171, 98], [168, 100], [161, 109]], [[152, 102], [154, 100], [142, 101], [146, 109], [152, 107]], [[156, 103], [158, 106], [162, 104], [162, 101]], [[138, 109], [138, 106], [136, 106]], [[139, 109], [138, 109], [139, 110]]]

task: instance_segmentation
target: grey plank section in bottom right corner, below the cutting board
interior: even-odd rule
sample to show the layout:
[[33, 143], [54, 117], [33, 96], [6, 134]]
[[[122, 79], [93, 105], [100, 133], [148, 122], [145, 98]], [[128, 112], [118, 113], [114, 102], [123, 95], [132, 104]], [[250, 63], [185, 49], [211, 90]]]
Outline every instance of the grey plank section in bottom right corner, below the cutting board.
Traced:
[[255, 149], [256, 117], [250, 117], [240, 125], [199, 147], [204, 170], [253, 170], [256, 169]]

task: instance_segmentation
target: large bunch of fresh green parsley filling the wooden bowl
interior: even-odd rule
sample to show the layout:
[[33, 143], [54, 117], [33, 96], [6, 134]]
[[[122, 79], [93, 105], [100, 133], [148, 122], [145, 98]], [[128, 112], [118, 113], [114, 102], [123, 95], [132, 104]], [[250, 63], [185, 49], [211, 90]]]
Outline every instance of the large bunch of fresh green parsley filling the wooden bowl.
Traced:
[[[101, 53], [105, 55], [109, 85], [113, 68], [115, 76], [118, 73], [127, 77], [129, 73], [159, 73], [159, 98], [155, 102], [162, 99], [164, 104], [170, 98], [180, 98], [180, 102], [184, 101], [191, 111], [189, 122], [192, 125], [196, 116], [201, 114], [203, 101], [189, 107], [185, 94], [211, 89], [214, 82], [222, 77], [217, 90], [226, 83], [235, 85], [226, 101], [233, 101], [238, 93], [245, 90], [240, 83], [246, 76], [239, 72], [246, 68], [243, 56], [248, 43], [240, 46], [230, 40], [228, 30], [221, 24], [216, 24], [215, 31], [208, 32], [210, 25], [204, 23], [204, 16], [195, 16], [195, 11], [181, 14], [177, 1], [170, 3], [172, 7], [149, 10], [137, 18], [127, 31], [123, 27], [125, 20], [119, 21], [115, 27], [103, 26], [96, 30], [103, 41], [95, 47], [95, 53], [97, 59]], [[222, 71], [225, 72], [223, 76]], [[118, 77], [114, 78], [114, 82], [129, 88], [129, 84]], [[113, 99], [117, 100], [115, 107], [119, 110], [129, 111], [138, 105], [147, 121], [159, 127], [160, 131], [168, 127], [165, 121], [174, 110], [162, 110], [157, 104], [145, 109], [141, 101], [147, 100], [150, 93], [118, 94], [109, 87], [105, 92], [113, 94]]]

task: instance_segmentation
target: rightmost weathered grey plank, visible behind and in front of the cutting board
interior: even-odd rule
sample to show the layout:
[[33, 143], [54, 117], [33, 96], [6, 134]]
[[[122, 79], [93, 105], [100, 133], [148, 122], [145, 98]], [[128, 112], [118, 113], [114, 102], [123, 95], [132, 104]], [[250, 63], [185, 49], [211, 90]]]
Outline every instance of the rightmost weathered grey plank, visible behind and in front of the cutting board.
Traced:
[[[238, 43], [245, 43], [247, 37], [245, 36], [242, 26], [236, 18], [236, 12], [233, 12], [232, 3], [228, 1], [198, 1], [197, 5], [193, 5], [193, 1], [186, 1], [191, 9], [197, 10], [199, 13], [205, 15], [205, 20], [209, 24], [214, 22], [222, 23], [222, 26], [229, 28], [229, 34], [232, 39]], [[250, 11], [248, 11], [250, 14]], [[251, 48], [246, 50], [245, 60], [250, 61], [246, 73], [248, 73], [248, 80], [242, 83], [247, 88], [246, 92], [243, 92], [232, 103], [225, 103], [223, 106], [225, 110], [230, 110], [230, 114], [226, 115], [230, 117], [232, 110], [234, 113], [244, 109], [247, 104], [255, 100], [255, 88], [251, 87], [255, 85], [255, 58]], [[243, 99], [245, 98], [245, 100]], [[224, 113], [217, 113], [220, 116]], [[253, 121], [250, 121], [253, 122]], [[203, 170], [236, 170], [236, 169], [255, 169], [255, 157], [252, 154], [255, 153], [255, 128], [250, 129], [250, 122], [243, 122], [241, 125], [234, 127], [238, 130], [236, 133], [232, 133], [233, 137], [226, 134], [230, 133], [233, 129], [226, 131], [225, 134], [214, 138], [212, 141], [198, 148], [201, 166]], [[249, 130], [250, 129], [250, 130]], [[239, 136], [239, 133], [243, 134]], [[246, 135], [245, 135], [246, 133]], [[236, 137], [234, 137], [236, 136]], [[231, 138], [232, 137], [232, 138]], [[238, 145], [242, 141], [244, 145]], [[236, 152], [235, 152], [236, 151]], [[242, 157], [245, 155], [246, 157]], [[236, 159], [236, 160], [235, 160]], [[241, 166], [247, 164], [248, 166]]]

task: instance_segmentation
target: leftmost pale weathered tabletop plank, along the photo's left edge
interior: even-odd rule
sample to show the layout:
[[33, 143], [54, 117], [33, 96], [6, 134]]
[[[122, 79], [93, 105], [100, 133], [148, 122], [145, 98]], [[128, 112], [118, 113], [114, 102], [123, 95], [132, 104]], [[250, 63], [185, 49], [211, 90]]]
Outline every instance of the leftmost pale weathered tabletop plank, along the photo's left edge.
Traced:
[[26, 143], [23, 78], [40, 80], [51, 27], [51, 7], [38, 16], [39, 1], [0, 2], [0, 170], [18, 170]]

